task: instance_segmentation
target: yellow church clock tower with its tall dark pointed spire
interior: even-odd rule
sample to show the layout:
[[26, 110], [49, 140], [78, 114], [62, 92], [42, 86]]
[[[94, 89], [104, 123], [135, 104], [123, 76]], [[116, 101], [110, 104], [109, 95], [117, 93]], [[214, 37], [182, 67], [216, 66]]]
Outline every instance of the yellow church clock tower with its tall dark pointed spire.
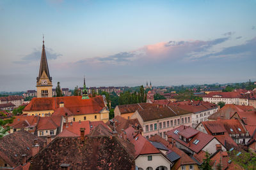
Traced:
[[36, 78], [37, 97], [52, 97], [52, 78], [49, 73], [49, 68], [46, 59], [44, 37], [43, 48], [40, 61], [40, 69], [38, 77]]

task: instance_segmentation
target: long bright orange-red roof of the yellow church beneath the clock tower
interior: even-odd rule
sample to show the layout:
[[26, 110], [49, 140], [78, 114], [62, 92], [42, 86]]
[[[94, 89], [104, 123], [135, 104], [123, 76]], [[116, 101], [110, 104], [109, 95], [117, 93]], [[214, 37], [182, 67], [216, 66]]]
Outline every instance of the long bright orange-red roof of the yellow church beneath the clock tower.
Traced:
[[100, 113], [105, 108], [102, 96], [90, 97], [90, 99], [82, 99], [81, 96], [34, 97], [24, 111], [56, 110], [61, 102], [74, 115]]

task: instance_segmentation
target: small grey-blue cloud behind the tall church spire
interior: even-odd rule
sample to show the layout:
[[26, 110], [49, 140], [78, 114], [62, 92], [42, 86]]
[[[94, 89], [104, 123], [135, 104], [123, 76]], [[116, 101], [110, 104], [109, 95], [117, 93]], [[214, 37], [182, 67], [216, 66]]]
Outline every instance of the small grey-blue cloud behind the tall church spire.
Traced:
[[[33, 61], [38, 61], [41, 59], [41, 50], [34, 49], [33, 52], [29, 53], [28, 55], [25, 55], [24, 57], [21, 58], [19, 61], [14, 61], [16, 64], [28, 64]], [[58, 57], [62, 56], [61, 53], [56, 53], [54, 52], [51, 48], [45, 48], [45, 53], [47, 60], [56, 60]]]

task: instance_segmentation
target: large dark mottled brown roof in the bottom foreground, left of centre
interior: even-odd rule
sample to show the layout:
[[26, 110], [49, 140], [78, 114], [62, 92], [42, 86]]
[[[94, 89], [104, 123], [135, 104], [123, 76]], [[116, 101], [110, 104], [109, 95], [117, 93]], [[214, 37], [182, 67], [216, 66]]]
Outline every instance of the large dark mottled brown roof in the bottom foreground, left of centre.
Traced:
[[129, 148], [115, 136], [57, 137], [31, 159], [30, 169], [135, 169]]

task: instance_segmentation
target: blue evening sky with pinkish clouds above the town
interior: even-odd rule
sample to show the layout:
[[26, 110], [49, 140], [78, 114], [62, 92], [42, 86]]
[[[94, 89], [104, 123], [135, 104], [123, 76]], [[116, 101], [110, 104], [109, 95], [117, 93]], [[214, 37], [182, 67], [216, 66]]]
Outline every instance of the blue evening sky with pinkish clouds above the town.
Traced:
[[256, 81], [256, 1], [0, 1], [0, 91]]

